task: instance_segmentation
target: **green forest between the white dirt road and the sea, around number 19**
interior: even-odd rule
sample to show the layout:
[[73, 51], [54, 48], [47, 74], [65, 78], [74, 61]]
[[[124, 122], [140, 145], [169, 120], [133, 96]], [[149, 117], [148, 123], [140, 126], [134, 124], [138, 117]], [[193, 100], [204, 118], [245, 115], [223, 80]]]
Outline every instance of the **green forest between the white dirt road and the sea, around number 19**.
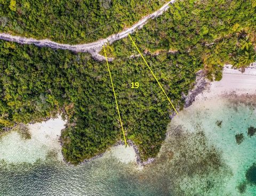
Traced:
[[[10, 2], [0, 3], [1, 17], [17, 21], [18, 5], [25, 3], [11, 9]], [[109, 2], [108, 13], [115, 1]], [[256, 1], [177, 1], [131, 35], [177, 109], [183, 108], [198, 70], [203, 69], [210, 80], [220, 80], [224, 64], [243, 70], [255, 61], [255, 6]], [[100, 19], [95, 17], [95, 21]], [[30, 19], [24, 20], [29, 23]], [[55, 22], [63, 21], [58, 18]], [[5, 27], [2, 23], [1, 31], [10, 32], [11, 27]], [[22, 35], [40, 36], [26, 28]], [[47, 31], [43, 37], [61, 39], [50, 34]], [[95, 34], [106, 36], [101, 30]], [[71, 32], [65, 32], [62, 40], [68, 41], [68, 35]], [[0, 47], [2, 129], [62, 113], [68, 119], [61, 135], [62, 152], [72, 164], [90, 159], [122, 139], [106, 62], [95, 61], [87, 53], [4, 40]], [[114, 58], [109, 66], [126, 138], [138, 146], [145, 161], [161, 148], [174, 111], [129, 38], [106, 49]], [[133, 82], [140, 87], [131, 88]]]

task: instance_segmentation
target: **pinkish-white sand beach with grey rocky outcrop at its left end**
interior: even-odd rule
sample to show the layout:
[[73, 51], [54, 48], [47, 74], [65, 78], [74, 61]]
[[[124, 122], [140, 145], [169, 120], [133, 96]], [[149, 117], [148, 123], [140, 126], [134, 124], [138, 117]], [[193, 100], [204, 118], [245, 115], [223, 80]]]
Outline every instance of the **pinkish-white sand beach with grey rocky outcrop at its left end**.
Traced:
[[186, 96], [185, 108], [194, 101], [213, 99], [227, 94], [256, 94], [256, 63], [245, 68], [243, 73], [228, 64], [223, 68], [220, 81], [210, 81], [205, 78], [202, 70], [198, 71], [195, 86]]

